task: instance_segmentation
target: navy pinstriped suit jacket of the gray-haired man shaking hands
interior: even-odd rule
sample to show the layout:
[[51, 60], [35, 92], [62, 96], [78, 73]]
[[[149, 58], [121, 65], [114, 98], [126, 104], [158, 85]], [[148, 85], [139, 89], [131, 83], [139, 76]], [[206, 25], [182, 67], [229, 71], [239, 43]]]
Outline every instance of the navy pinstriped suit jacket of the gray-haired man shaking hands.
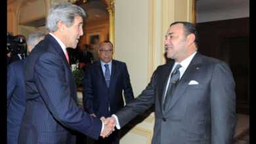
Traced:
[[75, 143], [75, 131], [98, 139], [102, 121], [77, 107], [70, 65], [53, 36], [33, 48], [24, 80], [26, 110], [18, 143]]

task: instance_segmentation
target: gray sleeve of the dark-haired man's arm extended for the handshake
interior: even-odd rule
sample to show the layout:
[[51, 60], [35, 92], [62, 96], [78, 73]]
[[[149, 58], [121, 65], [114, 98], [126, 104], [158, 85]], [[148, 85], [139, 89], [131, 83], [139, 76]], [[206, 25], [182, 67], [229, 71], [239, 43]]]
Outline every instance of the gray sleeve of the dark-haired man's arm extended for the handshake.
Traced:
[[[157, 70], [156, 70], [157, 71]], [[115, 115], [118, 118], [119, 126], [123, 127], [130, 120], [135, 118], [137, 115], [144, 113], [155, 103], [155, 85], [156, 85], [156, 71], [154, 71], [151, 81], [146, 86], [146, 89], [133, 101], [130, 101], [125, 107], [117, 111]]]

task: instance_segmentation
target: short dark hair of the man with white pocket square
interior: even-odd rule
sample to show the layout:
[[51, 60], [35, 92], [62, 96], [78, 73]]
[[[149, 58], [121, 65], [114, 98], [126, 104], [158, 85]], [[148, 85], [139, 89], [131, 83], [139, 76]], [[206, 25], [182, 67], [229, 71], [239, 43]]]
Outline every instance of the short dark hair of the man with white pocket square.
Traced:
[[183, 24], [183, 26], [184, 26], [184, 29], [183, 29], [184, 37], [187, 37], [188, 35], [193, 33], [196, 37], [194, 43], [196, 45], [196, 48], [199, 48], [200, 35], [199, 35], [198, 28], [190, 22], [173, 22], [173, 24], [171, 24], [170, 27], [175, 25], [175, 24]]

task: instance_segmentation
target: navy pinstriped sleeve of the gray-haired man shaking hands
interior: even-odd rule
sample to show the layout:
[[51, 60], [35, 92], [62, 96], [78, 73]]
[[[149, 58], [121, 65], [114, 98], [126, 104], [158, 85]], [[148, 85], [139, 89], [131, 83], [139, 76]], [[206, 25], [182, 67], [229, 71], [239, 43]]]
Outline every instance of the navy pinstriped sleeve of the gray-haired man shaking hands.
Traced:
[[70, 69], [65, 67], [60, 56], [52, 53], [45, 53], [37, 59], [34, 79], [39, 94], [51, 115], [60, 124], [85, 135], [94, 134], [95, 139], [98, 139], [102, 121], [77, 107], [71, 97], [73, 91], [70, 90], [70, 84], [74, 80], [68, 79]]

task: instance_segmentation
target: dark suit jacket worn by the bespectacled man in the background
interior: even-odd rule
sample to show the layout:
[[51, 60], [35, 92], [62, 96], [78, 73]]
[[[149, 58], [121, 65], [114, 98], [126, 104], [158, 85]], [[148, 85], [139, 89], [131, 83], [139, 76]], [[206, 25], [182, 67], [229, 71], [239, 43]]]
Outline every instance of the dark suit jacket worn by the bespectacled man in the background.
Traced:
[[83, 107], [96, 117], [109, 117], [108, 100], [111, 113], [116, 113], [124, 105], [123, 90], [131, 101], [134, 99], [127, 66], [112, 60], [109, 88], [106, 84], [100, 61], [88, 65], [83, 80]]

